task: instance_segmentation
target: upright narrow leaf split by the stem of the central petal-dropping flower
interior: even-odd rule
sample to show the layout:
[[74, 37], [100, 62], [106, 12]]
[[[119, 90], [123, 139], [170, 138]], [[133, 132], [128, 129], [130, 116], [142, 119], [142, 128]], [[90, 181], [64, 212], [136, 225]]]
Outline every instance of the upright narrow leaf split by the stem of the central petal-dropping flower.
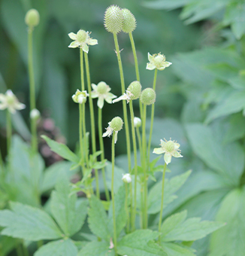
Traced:
[[[122, 231], [122, 228], [126, 226], [127, 215], [125, 206], [125, 186], [119, 188], [115, 195], [115, 215], [116, 215], [116, 236]], [[113, 237], [113, 208], [110, 203], [110, 209], [108, 213], [108, 230], [110, 230], [110, 236]]]

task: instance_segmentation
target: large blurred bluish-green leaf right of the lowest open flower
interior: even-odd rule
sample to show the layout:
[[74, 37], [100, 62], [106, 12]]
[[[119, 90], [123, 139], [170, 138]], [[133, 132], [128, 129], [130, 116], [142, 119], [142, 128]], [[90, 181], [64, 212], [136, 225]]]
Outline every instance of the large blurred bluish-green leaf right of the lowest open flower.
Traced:
[[187, 135], [195, 154], [219, 172], [228, 186], [237, 185], [243, 173], [244, 154], [240, 145], [232, 143], [223, 147], [213, 136], [210, 127], [201, 123], [186, 125]]

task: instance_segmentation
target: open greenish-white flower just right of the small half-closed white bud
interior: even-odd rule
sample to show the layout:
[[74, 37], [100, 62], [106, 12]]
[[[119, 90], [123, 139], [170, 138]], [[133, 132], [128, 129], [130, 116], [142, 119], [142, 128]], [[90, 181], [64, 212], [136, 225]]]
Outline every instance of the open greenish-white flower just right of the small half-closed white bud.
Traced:
[[110, 93], [111, 88], [109, 85], [107, 85], [105, 82], [101, 81], [97, 85], [91, 84], [92, 86], [92, 92], [91, 96], [92, 99], [98, 98], [98, 108], [103, 108], [104, 106], [104, 100], [111, 104], [112, 99], [115, 99], [116, 96], [113, 93]]

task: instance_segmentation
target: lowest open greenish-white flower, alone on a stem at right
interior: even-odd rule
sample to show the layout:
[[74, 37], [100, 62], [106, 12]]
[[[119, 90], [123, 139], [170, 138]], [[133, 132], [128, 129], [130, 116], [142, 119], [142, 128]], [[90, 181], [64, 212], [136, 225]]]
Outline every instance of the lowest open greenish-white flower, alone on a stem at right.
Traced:
[[174, 141], [169, 141], [165, 142], [161, 139], [161, 148], [154, 148], [153, 153], [155, 154], [165, 154], [164, 155], [164, 160], [165, 163], [171, 163], [171, 158], [172, 157], [183, 157], [180, 154], [180, 144]]

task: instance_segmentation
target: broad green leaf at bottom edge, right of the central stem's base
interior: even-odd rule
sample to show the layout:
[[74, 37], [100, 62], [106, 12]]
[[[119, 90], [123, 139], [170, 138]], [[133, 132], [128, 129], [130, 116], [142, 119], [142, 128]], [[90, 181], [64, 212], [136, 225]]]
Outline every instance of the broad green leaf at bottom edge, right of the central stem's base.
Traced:
[[136, 230], [119, 241], [117, 251], [128, 256], [167, 256], [165, 251], [153, 242], [158, 236], [159, 233], [152, 230]]

